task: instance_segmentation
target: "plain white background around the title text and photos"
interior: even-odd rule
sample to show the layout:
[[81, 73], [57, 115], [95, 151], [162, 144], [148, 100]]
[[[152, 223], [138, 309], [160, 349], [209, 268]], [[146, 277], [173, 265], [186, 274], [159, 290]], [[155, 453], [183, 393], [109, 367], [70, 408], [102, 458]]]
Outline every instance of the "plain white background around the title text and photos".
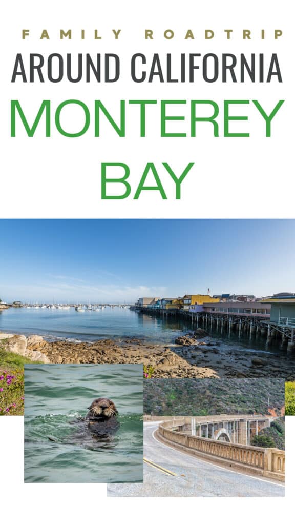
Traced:
[[[192, 2], [182, 0], [154, 1], [146, 4], [133, 1], [77, 2], [51, 0], [47, 3], [17, 0], [2, 7], [1, 57], [1, 145], [2, 173], [0, 181], [3, 218], [41, 217], [293, 217], [293, 163], [291, 162], [291, 119], [294, 114], [292, 70], [293, 29], [291, 2], [252, 1], [239, 3]], [[21, 30], [30, 29], [30, 37], [21, 39]], [[39, 40], [47, 29], [50, 40]], [[73, 38], [61, 41], [59, 29], [72, 29]], [[86, 39], [75, 38], [80, 29]], [[144, 29], [154, 30], [153, 41], [145, 41]], [[92, 38], [98, 29], [101, 40]], [[121, 29], [114, 41], [111, 29]], [[173, 40], [162, 36], [173, 29]], [[184, 40], [192, 29], [195, 40]], [[215, 38], [204, 39], [204, 30], [215, 31]], [[234, 29], [226, 40], [224, 29]], [[250, 29], [253, 39], [243, 41], [241, 31]], [[266, 30], [266, 39], [259, 39], [259, 30]], [[282, 29], [283, 36], [275, 41], [273, 30]], [[158, 35], [158, 36], [156, 36]], [[255, 36], [256, 35], [256, 36]], [[122, 74], [118, 82], [86, 85], [66, 80], [58, 84], [45, 82], [10, 83], [16, 53], [117, 53]], [[129, 61], [134, 53], [151, 56], [159, 53], [277, 53], [283, 83], [269, 84], [222, 83], [209, 84], [199, 80], [194, 84], [158, 82], [135, 84], [130, 80]], [[149, 114], [148, 133], [139, 138], [138, 111], [127, 107], [127, 137], [116, 137], [110, 126], [103, 125], [103, 136], [94, 138], [93, 128], [82, 138], [61, 137], [52, 125], [52, 137], [44, 138], [42, 124], [34, 138], [20, 132], [10, 138], [10, 99], [19, 99], [28, 118], [35, 116], [43, 99], [52, 107], [61, 101], [76, 98], [91, 108], [94, 99], [101, 99], [118, 116], [120, 99], [213, 99], [219, 106], [224, 99], [258, 99], [270, 111], [279, 99], [286, 99], [272, 121], [272, 138], [265, 138], [265, 125], [257, 110], [246, 107], [250, 138], [214, 138], [210, 125], [199, 125], [200, 135], [190, 138], [160, 138], [159, 107]], [[182, 109], [177, 108], [177, 109]], [[242, 108], [243, 109], [243, 108]], [[220, 117], [222, 117], [222, 111]], [[175, 112], [177, 114], [177, 112]], [[182, 113], [178, 113], [182, 114]], [[244, 114], [243, 112], [241, 114]], [[136, 116], [137, 115], [137, 116]], [[75, 125], [75, 115], [65, 117], [67, 125]], [[72, 122], [71, 122], [72, 119]], [[222, 118], [220, 130], [223, 128]], [[185, 131], [189, 130], [189, 121]], [[78, 125], [78, 124], [77, 124]], [[184, 129], [184, 128], [182, 128]], [[201, 135], [202, 132], [202, 135]], [[222, 135], [222, 133], [221, 133]], [[292, 137], [293, 138], [293, 137]], [[159, 166], [168, 162], [176, 173], [188, 162], [195, 162], [194, 171], [182, 184], [182, 199], [175, 201], [174, 184], [164, 178], [167, 201], [156, 192], [143, 192], [138, 201], [132, 196], [122, 201], [102, 201], [100, 198], [100, 163], [125, 162], [131, 167], [132, 196], [147, 162]], [[161, 171], [161, 176], [163, 174]], [[285, 254], [286, 255], [286, 254]], [[290, 283], [291, 285], [291, 283]], [[148, 523], [164, 519], [180, 522], [192, 520], [249, 520], [283, 522], [292, 511], [294, 454], [292, 433], [294, 419], [287, 427], [287, 483], [285, 499], [187, 498], [112, 499], [106, 500], [102, 485], [24, 485], [23, 484], [23, 418], [0, 418], [2, 519], [22, 523]], [[4, 515], [3, 515], [4, 514]], [[211, 518], [211, 519], [210, 519]]]

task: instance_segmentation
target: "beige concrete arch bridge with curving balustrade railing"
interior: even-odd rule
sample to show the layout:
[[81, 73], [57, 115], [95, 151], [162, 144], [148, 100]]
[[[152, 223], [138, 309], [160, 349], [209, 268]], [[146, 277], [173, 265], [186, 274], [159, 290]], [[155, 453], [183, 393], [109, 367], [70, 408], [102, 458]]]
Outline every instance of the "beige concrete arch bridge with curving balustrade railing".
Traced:
[[159, 423], [157, 435], [189, 454], [250, 474], [285, 479], [285, 450], [250, 445], [251, 435], [276, 419], [261, 415], [179, 417]]

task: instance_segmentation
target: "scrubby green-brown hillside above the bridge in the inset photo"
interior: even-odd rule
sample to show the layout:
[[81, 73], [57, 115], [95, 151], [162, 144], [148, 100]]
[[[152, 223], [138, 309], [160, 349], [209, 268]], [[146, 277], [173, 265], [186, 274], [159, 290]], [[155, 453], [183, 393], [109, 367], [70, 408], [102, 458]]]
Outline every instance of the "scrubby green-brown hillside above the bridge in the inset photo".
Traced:
[[144, 413], [155, 416], [283, 415], [284, 405], [283, 379], [149, 379], [144, 382]]

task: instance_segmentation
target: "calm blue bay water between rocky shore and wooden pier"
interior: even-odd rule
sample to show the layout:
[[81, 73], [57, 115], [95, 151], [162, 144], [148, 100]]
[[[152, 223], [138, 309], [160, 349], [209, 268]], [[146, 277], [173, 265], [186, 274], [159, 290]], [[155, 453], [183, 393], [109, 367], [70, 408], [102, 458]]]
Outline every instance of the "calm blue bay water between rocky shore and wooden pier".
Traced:
[[[180, 319], [163, 319], [131, 311], [129, 309], [106, 307], [104, 310], [76, 312], [49, 308], [9, 308], [0, 312], [0, 331], [21, 334], [39, 334], [45, 339], [71, 339], [73, 341], [95, 341], [112, 338], [122, 340], [124, 337], [146, 339], [153, 343], [173, 344], [178, 335], [191, 329], [189, 321]], [[207, 328], [210, 332], [209, 327]], [[274, 344], [266, 348], [265, 338], [249, 340], [228, 332], [210, 333], [222, 347], [231, 347], [244, 351], [279, 352]]]

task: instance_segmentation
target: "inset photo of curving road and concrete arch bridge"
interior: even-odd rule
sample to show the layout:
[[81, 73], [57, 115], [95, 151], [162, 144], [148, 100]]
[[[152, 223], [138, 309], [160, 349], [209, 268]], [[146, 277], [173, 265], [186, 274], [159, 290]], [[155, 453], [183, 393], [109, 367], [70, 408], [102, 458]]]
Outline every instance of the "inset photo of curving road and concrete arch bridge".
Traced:
[[285, 381], [145, 381], [144, 482], [108, 496], [285, 496]]

